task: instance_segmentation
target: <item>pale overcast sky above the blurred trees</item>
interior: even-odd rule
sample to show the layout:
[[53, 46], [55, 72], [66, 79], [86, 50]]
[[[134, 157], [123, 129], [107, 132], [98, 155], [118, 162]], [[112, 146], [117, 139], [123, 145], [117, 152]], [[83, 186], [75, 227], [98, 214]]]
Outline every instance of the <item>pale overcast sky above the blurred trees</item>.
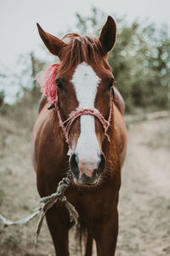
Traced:
[[0, 0], [0, 72], [1, 63], [13, 72], [20, 69], [19, 56], [32, 50], [42, 59], [48, 55], [48, 50], [42, 50], [37, 22], [55, 36], [77, 32], [75, 14], [90, 15], [92, 7], [106, 15], [127, 15], [129, 21], [139, 18], [143, 22], [148, 18], [170, 26], [169, 0]]

